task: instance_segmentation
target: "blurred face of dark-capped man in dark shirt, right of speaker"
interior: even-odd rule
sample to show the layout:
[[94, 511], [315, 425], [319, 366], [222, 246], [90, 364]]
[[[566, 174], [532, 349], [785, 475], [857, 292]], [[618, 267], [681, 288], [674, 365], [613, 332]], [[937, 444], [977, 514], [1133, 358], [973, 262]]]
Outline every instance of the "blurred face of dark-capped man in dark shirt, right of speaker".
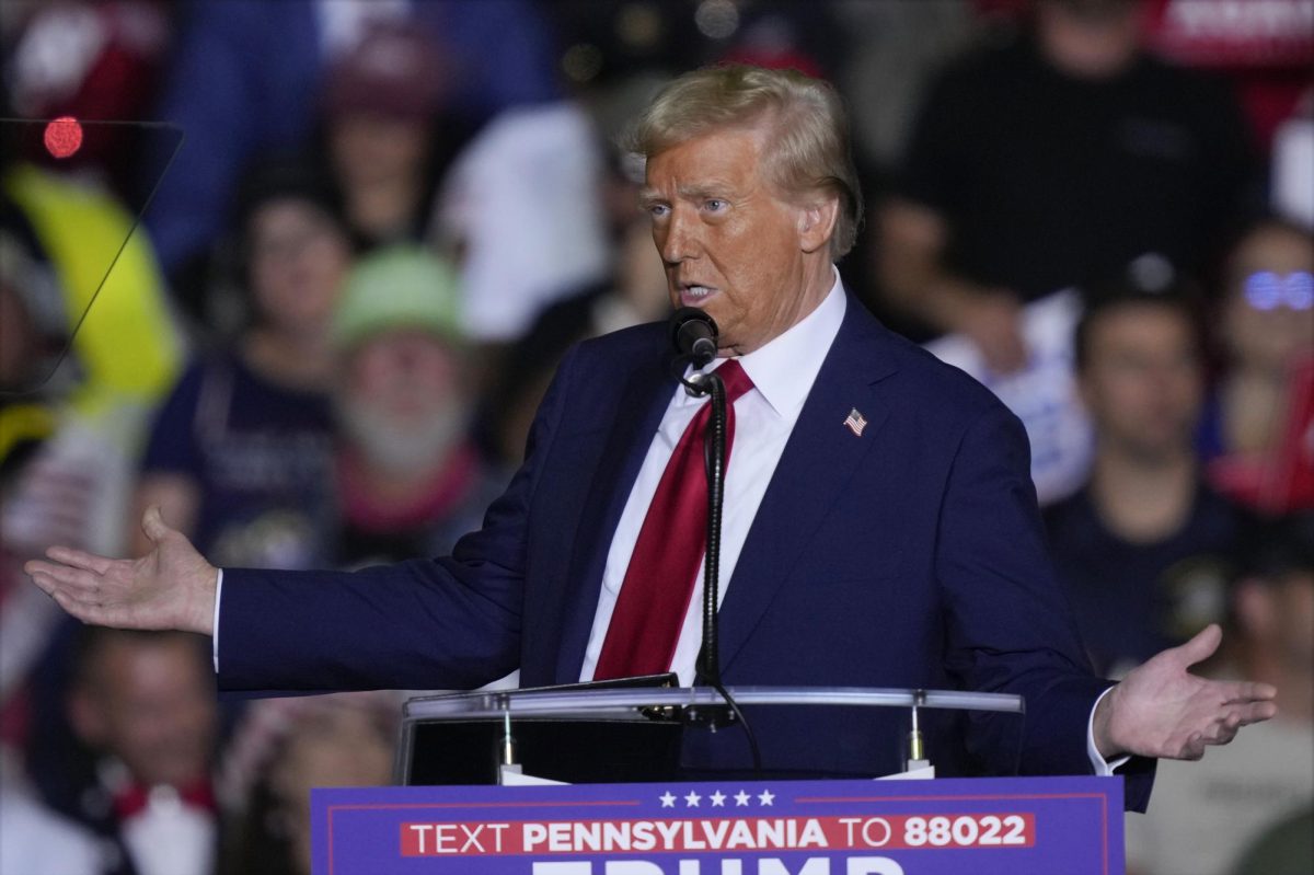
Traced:
[[1190, 444], [1201, 370], [1192, 326], [1159, 306], [1126, 306], [1092, 326], [1081, 397], [1100, 439], [1154, 459]]

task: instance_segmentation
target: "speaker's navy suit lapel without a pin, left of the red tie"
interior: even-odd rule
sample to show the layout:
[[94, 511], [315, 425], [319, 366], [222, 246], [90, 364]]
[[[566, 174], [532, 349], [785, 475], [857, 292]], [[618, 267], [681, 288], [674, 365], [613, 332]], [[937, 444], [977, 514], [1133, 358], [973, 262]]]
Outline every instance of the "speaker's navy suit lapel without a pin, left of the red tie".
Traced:
[[589, 485], [576, 529], [578, 536], [566, 566], [562, 595], [566, 614], [557, 654], [557, 683], [579, 679], [611, 539], [675, 385], [675, 378], [666, 373], [665, 367], [654, 363], [636, 368], [618, 397], [616, 415]]

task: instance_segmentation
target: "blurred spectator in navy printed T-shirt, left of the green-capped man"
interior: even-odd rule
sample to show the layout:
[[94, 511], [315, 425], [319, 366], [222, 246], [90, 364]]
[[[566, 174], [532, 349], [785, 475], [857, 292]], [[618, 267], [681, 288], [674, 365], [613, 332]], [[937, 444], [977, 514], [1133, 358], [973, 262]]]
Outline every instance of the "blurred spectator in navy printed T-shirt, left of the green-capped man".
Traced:
[[328, 327], [351, 254], [331, 192], [296, 164], [258, 171], [242, 215], [251, 326], [162, 407], [137, 506], [159, 505], [222, 565], [307, 568], [325, 561], [331, 514]]

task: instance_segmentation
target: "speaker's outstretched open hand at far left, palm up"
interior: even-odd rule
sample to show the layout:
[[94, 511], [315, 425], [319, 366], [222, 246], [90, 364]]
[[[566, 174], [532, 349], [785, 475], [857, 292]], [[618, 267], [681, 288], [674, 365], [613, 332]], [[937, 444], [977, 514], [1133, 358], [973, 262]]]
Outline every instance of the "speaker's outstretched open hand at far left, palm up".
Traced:
[[50, 561], [24, 570], [59, 607], [83, 623], [124, 629], [183, 629], [214, 633], [218, 569], [187, 537], [164, 524], [159, 507], [142, 518], [154, 549], [137, 560], [51, 547]]

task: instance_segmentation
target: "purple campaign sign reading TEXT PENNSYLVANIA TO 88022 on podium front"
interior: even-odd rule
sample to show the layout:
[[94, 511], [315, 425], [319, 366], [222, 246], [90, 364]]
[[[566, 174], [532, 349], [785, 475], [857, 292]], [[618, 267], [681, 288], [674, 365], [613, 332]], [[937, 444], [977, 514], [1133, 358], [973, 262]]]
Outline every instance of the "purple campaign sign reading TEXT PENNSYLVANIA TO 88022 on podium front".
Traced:
[[310, 794], [315, 875], [1121, 875], [1121, 778]]

